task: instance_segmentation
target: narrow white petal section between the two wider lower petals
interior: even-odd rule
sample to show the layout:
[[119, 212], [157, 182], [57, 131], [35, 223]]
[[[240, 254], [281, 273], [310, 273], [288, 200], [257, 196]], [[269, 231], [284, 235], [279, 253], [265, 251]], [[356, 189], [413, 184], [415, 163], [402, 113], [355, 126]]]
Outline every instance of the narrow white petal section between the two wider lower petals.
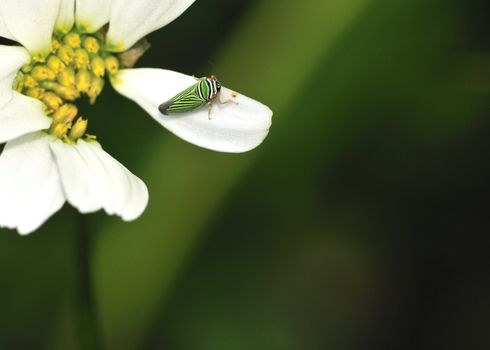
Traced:
[[61, 140], [52, 140], [50, 147], [58, 165], [68, 203], [83, 214], [102, 209], [102, 205], [92, 194], [88, 165], [81, 157], [76, 145], [68, 145]]

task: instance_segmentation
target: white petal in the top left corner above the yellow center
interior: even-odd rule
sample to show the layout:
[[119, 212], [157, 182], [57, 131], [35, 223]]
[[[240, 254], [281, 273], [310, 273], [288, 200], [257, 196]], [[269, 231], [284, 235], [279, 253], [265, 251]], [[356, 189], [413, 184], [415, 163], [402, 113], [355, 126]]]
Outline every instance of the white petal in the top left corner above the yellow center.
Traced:
[[13, 39], [33, 55], [47, 54], [60, 0], [1, 0], [0, 13]]

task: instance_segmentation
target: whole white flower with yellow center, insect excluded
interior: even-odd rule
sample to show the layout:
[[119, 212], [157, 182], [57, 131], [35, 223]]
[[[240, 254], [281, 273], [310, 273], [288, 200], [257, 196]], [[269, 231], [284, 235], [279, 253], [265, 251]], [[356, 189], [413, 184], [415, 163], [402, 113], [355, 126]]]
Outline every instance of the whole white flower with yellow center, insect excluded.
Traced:
[[[272, 112], [223, 88], [220, 100], [178, 117], [158, 106], [196, 79], [162, 69], [121, 69], [140, 39], [194, 0], [1, 0], [0, 227], [36, 230], [65, 201], [81, 213], [104, 209], [134, 220], [148, 203], [145, 184], [86, 133], [76, 100], [95, 102], [108, 76], [158, 123], [195, 145], [245, 152], [266, 137]], [[136, 44], [136, 45], [135, 45]], [[134, 46], [135, 45], [135, 46]], [[121, 56], [119, 55], [121, 54]]]

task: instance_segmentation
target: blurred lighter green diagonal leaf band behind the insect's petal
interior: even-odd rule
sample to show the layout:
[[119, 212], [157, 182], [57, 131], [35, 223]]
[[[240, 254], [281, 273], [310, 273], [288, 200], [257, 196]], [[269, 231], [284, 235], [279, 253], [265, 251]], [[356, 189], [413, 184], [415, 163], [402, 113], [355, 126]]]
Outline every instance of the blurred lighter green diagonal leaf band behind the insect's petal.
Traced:
[[[216, 74], [225, 85], [269, 104], [279, 121], [366, 3], [261, 2], [218, 56]], [[206, 223], [257, 152], [215, 154], [175, 138], [146, 152], [137, 173], [149, 184], [147, 212], [135, 223], [99, 228], [95, 278], [109, 348], [139, 348]]]

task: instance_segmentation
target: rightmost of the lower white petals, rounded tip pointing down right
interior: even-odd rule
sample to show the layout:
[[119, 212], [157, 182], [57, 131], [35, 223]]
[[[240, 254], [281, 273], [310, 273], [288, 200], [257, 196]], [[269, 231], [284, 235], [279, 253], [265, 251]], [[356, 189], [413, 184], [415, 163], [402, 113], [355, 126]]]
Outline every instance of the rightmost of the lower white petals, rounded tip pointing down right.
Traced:
[[97, 142], [78, 141], [93, 196], [109, 215], [125, 221], [138, 218], [148, 204], [148, 190], [138, 177], [106, 153]]

